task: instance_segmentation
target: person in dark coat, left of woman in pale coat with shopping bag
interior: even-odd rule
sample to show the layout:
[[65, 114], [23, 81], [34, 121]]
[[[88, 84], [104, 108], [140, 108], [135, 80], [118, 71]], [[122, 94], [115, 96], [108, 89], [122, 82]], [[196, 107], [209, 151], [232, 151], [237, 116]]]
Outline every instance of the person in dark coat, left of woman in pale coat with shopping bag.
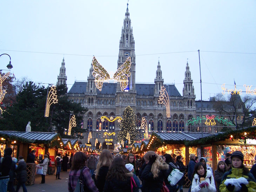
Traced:
[[23, 192], [27, 192], [27, 188], [25, 183], [27, 181], [27, 164], [22, 156], [19, 156], [19, 164], [17, 168], [17, 180], [18, 185], [16, 187], [16, 192], [19, 191], [20, 186], [22, 186]]

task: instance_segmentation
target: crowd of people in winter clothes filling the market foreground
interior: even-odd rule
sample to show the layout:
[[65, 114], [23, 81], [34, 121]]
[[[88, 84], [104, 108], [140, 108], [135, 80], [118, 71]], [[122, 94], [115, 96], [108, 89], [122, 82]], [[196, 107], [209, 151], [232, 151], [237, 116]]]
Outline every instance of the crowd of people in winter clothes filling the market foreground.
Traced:
[[[17, 192], [22, 187], [26, 192], [26, 162], [22, 156], [16, 159], [11, 155], [12, 149], [6, 148], [4, 157], [0, 159], [0, 191]], [[37, 165], [43, 170], [41, 184], [45, 183], [47, 174], [53, 174], [49, 153], [43, 157]], [[244, 156], [240, 151], [225, 154], [225, 161], [219, 161], [215, 171], [209, 166], [207, 158], [197, 158], [195, 154], [190, 154], [188, 166], [184, 166], [181, 155], [160, 156], [154, 151], [148, 151], [143, 158], [134, 154], [114, 155], [107, 149], [100, 155], [90, 155], [89, 158], [83, 152], [76, 152], [70, 158], [65, 157], [67, 154], [63, 158], [58, 154], [55, 158], [56, 179], [61, 179], [61, 168], [66, 172], [66, 164], [69, 162], [69, 192], [74, 192], [81, 182], [85, 191], [92, 192], [160, 192], [163, 187], [167, 187], [170, 192], [183, 192], [184, 176], [174, 185], [169, 182], [168, 177], [175, 169], [182, 173], [187, 170], [191, 181], [189, 192], [256, 191], [256, 164], [249, 171], [243, 164]], [[27, 163], [34, 163], [34, 160], [35, 151], [32, 150]], [[14, 178], [18, 181], [16, 190], [13, 187]]]

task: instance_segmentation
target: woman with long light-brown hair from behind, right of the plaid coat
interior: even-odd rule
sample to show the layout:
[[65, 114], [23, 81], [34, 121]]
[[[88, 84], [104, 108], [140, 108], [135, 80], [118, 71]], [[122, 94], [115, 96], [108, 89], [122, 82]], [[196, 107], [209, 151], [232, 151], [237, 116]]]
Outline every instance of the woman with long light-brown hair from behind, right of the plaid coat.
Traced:
[[113, 155], [107, 149], [104, 149], [97, 163], [96, 174], [95, 174], [95, 185], [102, 192], [104, 189], [108, 169], [113, 161]]

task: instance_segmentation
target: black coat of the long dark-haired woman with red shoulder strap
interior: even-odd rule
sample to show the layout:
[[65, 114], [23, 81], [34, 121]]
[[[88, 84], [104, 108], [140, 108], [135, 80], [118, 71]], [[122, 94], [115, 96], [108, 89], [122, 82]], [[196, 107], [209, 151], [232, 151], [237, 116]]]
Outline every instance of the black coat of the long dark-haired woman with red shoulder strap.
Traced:
[[111, 180], [106, 180], [104, 185], [104, 192], [130, 192], [131, 191], [131, 183], [130, 177], [133, 176], [133, 173], [127, 173], [128, 178], [125, 181], [117, 180], [116, 178], [112, 178]]

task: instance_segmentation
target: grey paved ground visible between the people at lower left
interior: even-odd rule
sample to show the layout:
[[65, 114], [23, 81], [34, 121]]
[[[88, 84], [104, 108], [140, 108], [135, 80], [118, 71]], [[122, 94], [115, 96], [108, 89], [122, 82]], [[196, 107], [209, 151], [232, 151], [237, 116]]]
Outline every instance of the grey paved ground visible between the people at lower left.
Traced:
[[[47, 175], [45, 176], [45, 184], [40, 184], [41, 175], [36, 175], [35, 184], [34, 185], [26, 185], [28, 192], [68, 192], [68, 173], [69, 172], [61, 172], [60, 178], [55, 179], [55, 175]], [[16, 190], [16, 186], [14, 186]], [[22, 192], [22, 187], [19, 192]], [[178, 191], [179, 192], [179, 191]], [[188, 188], [183, 188], [183, 192], [188, 192]]]

